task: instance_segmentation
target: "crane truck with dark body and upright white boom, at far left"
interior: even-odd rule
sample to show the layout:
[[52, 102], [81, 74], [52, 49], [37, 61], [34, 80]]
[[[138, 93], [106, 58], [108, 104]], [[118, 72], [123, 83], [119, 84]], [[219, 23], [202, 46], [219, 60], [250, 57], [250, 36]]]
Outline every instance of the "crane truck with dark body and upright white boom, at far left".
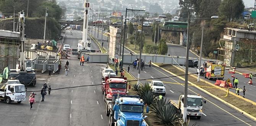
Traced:
[[24, 52], [24, 40], [26, 38], [25, 35], [25, 13], [24, 11], [19, 12], [19, 30], [20, 30], [20, 45], [19, 45], [19, 61], [18, 65], [16, 65], [16, 69], [10, 69], [11, 78], [18, 79], [21, 84], [25, 86], [36, 85], [36, 73], [32, 69], [32, 60], [25, 58]]

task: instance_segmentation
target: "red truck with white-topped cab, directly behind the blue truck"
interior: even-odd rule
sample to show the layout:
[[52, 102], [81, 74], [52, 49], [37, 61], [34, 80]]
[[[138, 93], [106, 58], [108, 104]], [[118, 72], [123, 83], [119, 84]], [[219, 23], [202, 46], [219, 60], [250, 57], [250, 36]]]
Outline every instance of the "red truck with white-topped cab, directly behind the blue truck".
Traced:
[[[129, 89], [131, 89], [130, 85]], [[118, 90], [120, 95], [127, 95], [127, 78], [105, 77], [105, 81], [102, 81], [104, 99], [112, 98], [112, 95], [117, 94]]]

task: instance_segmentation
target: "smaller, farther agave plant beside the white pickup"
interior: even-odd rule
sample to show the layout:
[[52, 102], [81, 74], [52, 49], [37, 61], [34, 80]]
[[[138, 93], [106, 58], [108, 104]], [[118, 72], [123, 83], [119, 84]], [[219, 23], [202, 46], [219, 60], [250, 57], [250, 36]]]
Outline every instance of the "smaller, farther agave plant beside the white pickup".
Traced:
[[143, 102], [147, 103], [148, 105], [151, 105], [156, 99], [156, 96], [154, 96], [152, 93], [151, 86], [147, 83], [139, 86], [139, 90], [136, 92], [136, 95], [141, 96], [141, 99], [143, 99]]

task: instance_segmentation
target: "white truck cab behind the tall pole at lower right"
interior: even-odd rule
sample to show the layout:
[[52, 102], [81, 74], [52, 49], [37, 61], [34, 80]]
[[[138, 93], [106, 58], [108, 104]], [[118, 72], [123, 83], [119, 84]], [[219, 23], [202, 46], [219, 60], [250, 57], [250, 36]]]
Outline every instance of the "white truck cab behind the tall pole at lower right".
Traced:
[[[204, 100], [200, 95], [188, 95], [187, 100], [187, 115], [196, 116], [197, 119], [200, 119], [203, 113], [203, 104], [206, 103], [206, 100]], [[181, 113], [183, 113], [183, 105], [184, 95], [180, 95], [178, 107], [180, 108]]]

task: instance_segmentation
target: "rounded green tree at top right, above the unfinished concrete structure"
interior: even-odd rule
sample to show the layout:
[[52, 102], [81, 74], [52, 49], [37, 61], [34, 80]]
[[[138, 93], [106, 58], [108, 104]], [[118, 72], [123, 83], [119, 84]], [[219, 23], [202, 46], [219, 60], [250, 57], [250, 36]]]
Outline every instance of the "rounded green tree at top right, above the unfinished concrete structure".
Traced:
[[222, 0], [219, 6], [219, 14], [228, 21], [232, 21], [239, 18], [244, 9], [243, 0]]

